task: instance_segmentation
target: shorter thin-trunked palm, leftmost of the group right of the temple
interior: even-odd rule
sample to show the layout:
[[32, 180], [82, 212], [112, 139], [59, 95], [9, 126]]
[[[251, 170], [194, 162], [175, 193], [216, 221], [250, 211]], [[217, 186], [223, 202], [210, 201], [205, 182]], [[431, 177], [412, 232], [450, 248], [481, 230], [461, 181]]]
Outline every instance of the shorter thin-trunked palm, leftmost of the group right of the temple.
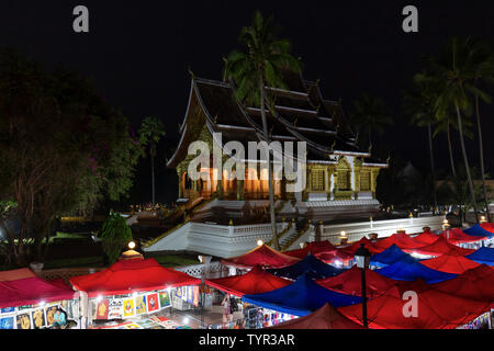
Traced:
[[436, 111], [434, 109], [437, 92], [430, 83], [415, 81], [415, 91], [405, 93], [405, 109], [412, 115], [412, 123], [419, 127], [427, 127], [427, 137], [429, 141], [430, 172], [433, 176], [433, 200], [434, 212], [437, 208], [436, 194], [436, 168], [434, 163], [433, 148], [433, 125], [437, 123]]

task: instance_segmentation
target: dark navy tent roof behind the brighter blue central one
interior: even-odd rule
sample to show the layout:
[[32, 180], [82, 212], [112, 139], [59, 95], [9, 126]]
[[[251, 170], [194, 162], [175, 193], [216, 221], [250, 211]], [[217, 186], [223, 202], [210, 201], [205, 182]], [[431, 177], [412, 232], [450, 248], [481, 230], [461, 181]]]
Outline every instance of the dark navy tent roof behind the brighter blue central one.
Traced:
[[302, 261], [299, 261], [292, 265], [280, 269], [269, 269], [267, 271], [277, 276], [296, 280], [304, 273], [312, 279], [323, 279], [337, 275], [346, 270], [326, 264], [310, 253]]

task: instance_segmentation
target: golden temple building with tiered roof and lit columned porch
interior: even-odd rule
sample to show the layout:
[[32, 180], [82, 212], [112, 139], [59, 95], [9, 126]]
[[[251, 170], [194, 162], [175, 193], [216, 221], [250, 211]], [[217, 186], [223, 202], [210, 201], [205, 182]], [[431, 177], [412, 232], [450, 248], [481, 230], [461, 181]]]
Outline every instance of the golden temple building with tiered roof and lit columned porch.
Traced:
[[[274, 102], [274, 113], [267, 111], [270, 141], [306, 143], [306, 186], [301, 192], [287, 192], [288, 181], [282, 177], [274, 181], [277, 214], [328, 218], [336, 214], [360, 214], [379, 210], [375, 200], [377, 178], [385, 161], [371, 158], [368, 150], [357, 146], [356, 135], [345, 116], [339, 101], [325, 100], [318, 82], [304, 80], [300, 73], [284, 72], [287, 89], [266, 87]], [[244, 202], [252, 206], [268, 200], [266, 167], [245, 167], [245, 180], [224, 171], [217, 179], [217, 169], [202, 168], [201, 174], [210, 176], [209, 181], [192, 181], [188, 174], [189, 162], [195, 155], [188, 155], [189, 145], [203, 140], [213, 155], [216, 143], [224, 151], [223, 161], [231, 156], [224, 150], [226, 143], [236, 140], [262, 140], [262, 122], [258, 106], [246, 106], [235, 95], [232, 81], [206, 80], [191, 75], [189, 103], [183, 122], [179, 126], [180, 141], [175, 154], [167, 161], [168, 168], [177, 170], [179, 180], [179, 202], [215, 200], [213, 207], [240, 208]], [[222, 138], [215, 138], [221, 133]], [[211, 161], [213, 165], [213, 161]], [[261, 176], [261, 177], [259, 177]], [[265, 176], [265, 177], [262, 177]], [[232, 202], [233, 201], [233, 202]], [[291, 205], [287, 205], [290, 203]], [[285, 212], [283, 214], [283, 211]], [[207, 214], [202, 214], [207, 218]]]

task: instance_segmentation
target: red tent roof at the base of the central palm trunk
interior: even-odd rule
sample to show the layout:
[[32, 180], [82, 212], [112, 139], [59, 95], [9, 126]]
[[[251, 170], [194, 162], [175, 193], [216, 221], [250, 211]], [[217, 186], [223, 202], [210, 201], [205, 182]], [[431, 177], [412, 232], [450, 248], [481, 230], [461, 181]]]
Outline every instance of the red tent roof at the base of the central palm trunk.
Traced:
[[252, 268], [256, 264], [265, 268], [283, 268], [299, 261], [297, 258], [281, 253], [267, 245], [261, 245], [243, 256], [222, 260], [222, 263], [237, 268]]

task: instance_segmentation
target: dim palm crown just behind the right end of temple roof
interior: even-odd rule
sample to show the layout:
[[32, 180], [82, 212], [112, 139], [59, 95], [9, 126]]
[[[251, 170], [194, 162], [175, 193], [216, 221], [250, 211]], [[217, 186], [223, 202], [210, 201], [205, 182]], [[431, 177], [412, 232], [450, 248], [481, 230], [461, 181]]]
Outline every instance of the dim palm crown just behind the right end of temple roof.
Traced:
[[383, 100], [369, 94], [362, 94], [359, 100], [353, 101], [353, 107], [352, 123], [359, 133], [368, 135], [371, 147], [373, 133], [381, 135], [385, 126], [393, 123], [390, 112]]

